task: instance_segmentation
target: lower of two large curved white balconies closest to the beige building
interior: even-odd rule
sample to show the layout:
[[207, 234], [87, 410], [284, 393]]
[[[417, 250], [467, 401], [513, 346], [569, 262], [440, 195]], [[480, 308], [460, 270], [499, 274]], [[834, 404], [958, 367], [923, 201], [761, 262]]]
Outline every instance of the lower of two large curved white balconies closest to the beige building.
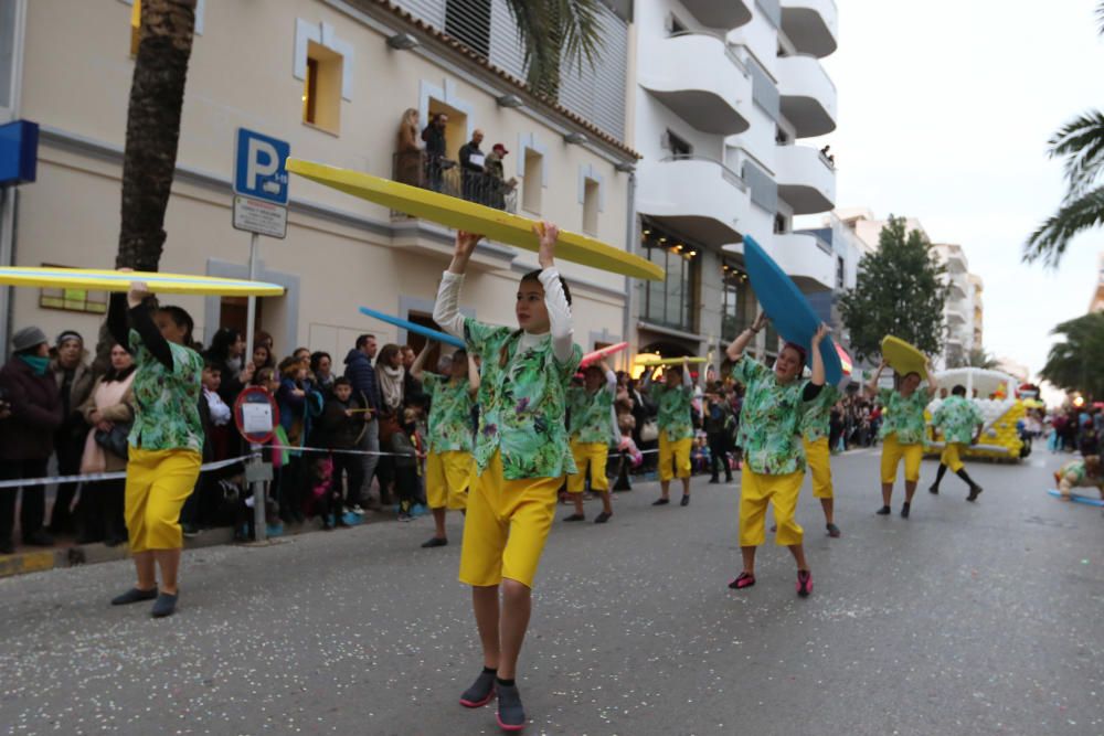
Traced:
[[743, 236], [747, 185], [719, 161], [671, 157], [640, 162], [637, 211], [701, 245], [721, 246]]

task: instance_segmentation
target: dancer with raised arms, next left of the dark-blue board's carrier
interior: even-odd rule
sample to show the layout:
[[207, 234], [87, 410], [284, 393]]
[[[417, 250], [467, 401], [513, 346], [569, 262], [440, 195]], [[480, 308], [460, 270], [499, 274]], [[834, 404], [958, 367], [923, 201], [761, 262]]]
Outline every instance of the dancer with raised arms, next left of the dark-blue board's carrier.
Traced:
[[646, 371], [643, 387], [659, 406], [656, 424], [659, 426], [660, 495], [651, 505], [662, 506], [671, 502], [671, 479], [675, 477], [682, 481], [680, 505], [690, 505], [690, 450], [693, 446], [693, 422], [690, 416], [693, 382], [690, 378], [690, 362], [683, 359], [681, 366], [667, 366], [661, 384], [652, 383], [651, 371]]

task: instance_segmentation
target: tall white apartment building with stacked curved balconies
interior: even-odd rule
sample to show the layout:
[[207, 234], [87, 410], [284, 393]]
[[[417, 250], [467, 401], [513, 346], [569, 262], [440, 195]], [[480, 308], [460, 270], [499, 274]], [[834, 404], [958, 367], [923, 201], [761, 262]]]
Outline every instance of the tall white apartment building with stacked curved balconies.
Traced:
[[[799, 143], [836, 128], [836, 88], [819, 61], [836, 50], [836, 6], [649, 0], [634, 10], [639, 248], [667, 282], [637, 285], [628, 334], [640, 350], [719, 359], [757, 309], [744, 235], [805, 291], [836, 284], [831, 245], [793, 232], [795, 215], [836, 200], [831, 161]], [[776, 335], [760, 335], [760, 352], [776, 348]]]

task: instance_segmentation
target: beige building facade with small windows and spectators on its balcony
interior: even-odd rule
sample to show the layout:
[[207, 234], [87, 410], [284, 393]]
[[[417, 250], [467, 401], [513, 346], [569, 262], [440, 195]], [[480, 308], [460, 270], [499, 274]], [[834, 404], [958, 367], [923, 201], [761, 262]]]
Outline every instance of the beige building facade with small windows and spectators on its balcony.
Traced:
[[[19, 193], [12, 263], [112, 267], [134, 72], [131, 4], [18, 4], [25, 17], [17, 115], [40, 124], [41, 142], [38, 180]], [[247, 275], [251, 236], [231, 225], [240, 127], [288, 141], [295, 158], [390, 178], [407, 108], [418, 110], [420, 128], [433, 113], [449, 115], [449, 158], [477, 128], [486, 132], [485, 152], [498, 142], [507, 148], [506, 178], [517, 180], [507, 209], [628, 245], [636, 156], [620, 142], [624, 125], [612, 134], [588, 122], [586, 110], [531, 94], [432, 19], [376, 0], [200, 2], [199, 11], [161, 270]], [[604, 13], [616, 30], [620, 19], [609, 8]], [[586, 100], [569, 102], [582, 107]], [[295, 175], [289, 188], [287, 237], [262, 237], [259, 248], [258, 278], [287, 288], [285, 297], [258, 306], [257, 328], [274, 335], [278, 354], [306, 345], [340, 364], [359, 333], [407, 341], [360, 316], [360, 306], [428, 323], [450, 232]], [[481, 244], [464, 308], [487, 322], [514, 324], [517, 281], [537, 265], [534, 253]], [[560, 268], [575, 300], [576, 341], [590, 350], [620, 340], [627, 279], [566, 262]], [[92, 339], [104, 300], [13, 289], [9, 324], [39, 324], [47, 334], [76, 329]], [[193, 314], [201, 341], [220, 326], [244, 331], [242, 300], [172, 301]]]

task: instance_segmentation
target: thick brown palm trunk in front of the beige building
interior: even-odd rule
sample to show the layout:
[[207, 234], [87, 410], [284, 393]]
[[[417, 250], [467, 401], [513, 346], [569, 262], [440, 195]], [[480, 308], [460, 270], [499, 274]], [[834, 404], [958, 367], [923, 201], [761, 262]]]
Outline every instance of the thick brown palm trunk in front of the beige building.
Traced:
[[141, 0], [116, 267], [157, 270], [161, 259], [194, 30], [195, 0]]

